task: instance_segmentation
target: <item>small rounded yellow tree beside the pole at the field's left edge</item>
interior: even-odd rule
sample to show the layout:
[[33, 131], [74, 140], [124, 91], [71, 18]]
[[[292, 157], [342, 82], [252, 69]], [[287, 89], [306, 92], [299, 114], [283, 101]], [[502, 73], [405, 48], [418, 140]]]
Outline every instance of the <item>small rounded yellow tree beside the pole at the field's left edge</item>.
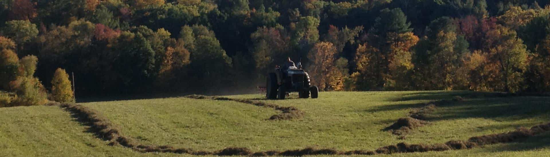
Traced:
[[56, 102], [74, 102], [74, 93], [69, 81], [69, 75], [64, 69], [58, 68], [52, 79], [52, 99]]

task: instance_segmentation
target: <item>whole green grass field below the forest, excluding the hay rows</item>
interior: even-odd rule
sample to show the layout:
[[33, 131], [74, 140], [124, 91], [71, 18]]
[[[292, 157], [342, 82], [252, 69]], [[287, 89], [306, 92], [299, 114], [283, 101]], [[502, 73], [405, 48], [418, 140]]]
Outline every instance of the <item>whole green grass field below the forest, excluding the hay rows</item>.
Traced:
[[[373, 150], [385, 145], [443, 143], [513, 131], [550, 121], [550, 97], [477, 97], [473, 92], [324, 92], [319, 99], [263, 100], [260, 94], [227, 96], [295, 106], [305, 116], [267, 120], [278, 111], [222, 100], [163, 98], [83, 103], [141, 143], [200, 150], [246, 147], [253, 151], [301, 149]], [[404, 137], [382, 131], [421, 103], [466, 98], [438, 106], [430, 125]], [[293, 96], [297, 97], [297, 96]], [[175, 156], [137, 153], [87, 132], [59, 106], [0, 108], [0, 156]], [[550, 134], [469, 150], [392, 156], [548, 156]], [[384, 156], [384, 155], [381, 155]]]

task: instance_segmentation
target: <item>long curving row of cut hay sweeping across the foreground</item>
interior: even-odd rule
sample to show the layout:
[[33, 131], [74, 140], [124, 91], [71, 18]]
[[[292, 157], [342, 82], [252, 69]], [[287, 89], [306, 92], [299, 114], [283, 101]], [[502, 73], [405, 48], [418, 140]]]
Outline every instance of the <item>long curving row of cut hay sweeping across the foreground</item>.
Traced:
[[97, 137], [109, 141], [109, 145], [122, 145], [123, 147], [131, 148], [135, 151], [157, 152], [157, 153], [177, 153], [177, 154], [192, 154], [192, 155], [247, 155], [247, 156], [303, 156], [303, 155], [375, 155], [375, 154], [394, 154], [394, 153], [413, 153], [413, 152], [428, 152], [428, 151], [444, 151], [444, 150], [459, 150], [470, 149], [480, 145], [514, 142], [518, 139], [524, 139], [543, 132], [550, 131], [550, 123], [533, 126], [529, 129], [520, 128], [519, 130], [489, 134], [485, 136], [471, 137], [467, 141], [449, 141], [439, 144], [407, 144], [398, 143], [388, 145], [376, 150], [353, 150], [341, 151], [337, 149], [318, 149], [305, 148], [296, 150], [284, 151], [266, 151], [252, 152], [248, 148], [226, 148], [217, 151], [193, 150], [188, 148], [174, 148], [169, 145], [147, 145], [141, 144], [137, 140], [124, 136], [119, 128], [112, 124], [106, 117], [99, 114], [97, 111], [87, 108], [79, 104], [61, 104], [61, 108], [72, 113], [72, 115], [84, 125], [90, 126], [90, 131], [94, 132]]

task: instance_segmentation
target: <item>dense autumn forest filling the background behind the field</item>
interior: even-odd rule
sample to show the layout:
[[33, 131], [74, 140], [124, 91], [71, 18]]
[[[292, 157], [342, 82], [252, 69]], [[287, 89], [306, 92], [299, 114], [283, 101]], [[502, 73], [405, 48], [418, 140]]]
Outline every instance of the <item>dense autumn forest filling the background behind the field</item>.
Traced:
[[0, 0], [0, 90], [254, 90], [290, 57], [321, 91], [549, 92], [547, 4]]

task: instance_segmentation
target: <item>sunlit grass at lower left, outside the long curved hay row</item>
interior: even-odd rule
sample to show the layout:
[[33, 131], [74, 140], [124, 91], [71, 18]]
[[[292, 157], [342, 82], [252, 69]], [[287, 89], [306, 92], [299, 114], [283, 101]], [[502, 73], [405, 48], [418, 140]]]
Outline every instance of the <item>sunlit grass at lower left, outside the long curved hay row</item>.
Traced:
[[0, 156], [166, 156], [138, 153], [86, 132], [59, 106], [0, 108]]

